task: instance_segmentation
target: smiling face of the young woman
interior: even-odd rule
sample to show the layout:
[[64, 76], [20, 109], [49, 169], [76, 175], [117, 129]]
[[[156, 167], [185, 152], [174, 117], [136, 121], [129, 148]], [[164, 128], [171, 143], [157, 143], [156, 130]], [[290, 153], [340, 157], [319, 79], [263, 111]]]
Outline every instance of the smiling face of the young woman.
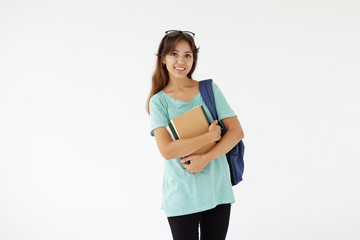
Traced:
[[170, 78], [186, 78], [193, 65], [193, 52], [187, 41], [180, 40], [175, 48], [166, 55], [163, 63], [169, 72]]

